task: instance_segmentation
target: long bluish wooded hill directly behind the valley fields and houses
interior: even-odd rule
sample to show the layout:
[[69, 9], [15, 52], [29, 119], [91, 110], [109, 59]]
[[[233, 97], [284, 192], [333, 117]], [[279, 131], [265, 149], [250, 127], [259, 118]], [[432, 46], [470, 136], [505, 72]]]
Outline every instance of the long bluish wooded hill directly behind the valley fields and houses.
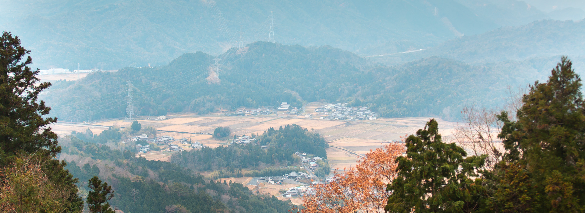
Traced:
[[324, 101], [367, 105], [387, 117], [450, 118], [464, 104], [500, 103], [508, 85], [526, 83], [525, 75], [531, 73], [438, 57], [386, 67], [328, 46], [257, 42], [220, 55], [222, 71], [214, 83], [206, 79], [213, 58], [198, 52], [163, 67], [97, 72], [75, 82], [57, 82], [42, 99], [53, 107], [51, 116], [62, 121], [123, 117], [125, 81], [133, 81], [134, 106], [140, 116], [209, 113], [220, 107], [280, 102], [301, 107], [303, 102]]

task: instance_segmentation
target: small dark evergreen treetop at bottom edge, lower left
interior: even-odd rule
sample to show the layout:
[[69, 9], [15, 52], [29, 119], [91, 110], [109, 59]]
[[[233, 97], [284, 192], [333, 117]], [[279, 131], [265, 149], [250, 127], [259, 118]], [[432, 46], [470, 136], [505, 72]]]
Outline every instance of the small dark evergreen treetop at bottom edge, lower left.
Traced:
[[113, 197], [112, 186], [94, 176], [88, 180], [87, 187], [91, 189], [87, 194], [87, 207], [91, 213], [114, 213], [108, 202]]

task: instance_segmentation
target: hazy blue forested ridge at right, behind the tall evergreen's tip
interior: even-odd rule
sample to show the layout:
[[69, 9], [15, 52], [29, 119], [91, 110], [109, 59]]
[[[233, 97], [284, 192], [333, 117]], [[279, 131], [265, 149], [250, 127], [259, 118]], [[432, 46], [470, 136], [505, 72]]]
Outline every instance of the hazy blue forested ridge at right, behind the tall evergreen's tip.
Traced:
[[[573, 58], [585, 56], [585, 22], [540, 20], [528, 25], [501, 27], [487, 33], [446, 41], [424, 51], [378, 57], [376, 60], [386, 64], [401, 64], [439, 56], [482, 65], [525, 60], [554, 65], [560, 55]], [[581, 67], [580, 60], [576, 61], [577, 67]], [[548, 69], [550, 66], [546, 67]]]

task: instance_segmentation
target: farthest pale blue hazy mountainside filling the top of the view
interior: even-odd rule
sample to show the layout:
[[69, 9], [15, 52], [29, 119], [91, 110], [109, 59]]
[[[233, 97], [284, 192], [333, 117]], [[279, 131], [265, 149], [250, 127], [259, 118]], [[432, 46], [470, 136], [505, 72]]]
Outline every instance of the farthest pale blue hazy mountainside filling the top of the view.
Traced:
[[508, 3], [5, 0], [0, 29], [22, 38], [35, 67], [118, 69], [164, 65], [195, 51], [220, 54], [240, 40], [267, 40], [270, 12], [278, 43], [331, 45], [365, 55], [432, 47], [547, 17], [524, 2]]

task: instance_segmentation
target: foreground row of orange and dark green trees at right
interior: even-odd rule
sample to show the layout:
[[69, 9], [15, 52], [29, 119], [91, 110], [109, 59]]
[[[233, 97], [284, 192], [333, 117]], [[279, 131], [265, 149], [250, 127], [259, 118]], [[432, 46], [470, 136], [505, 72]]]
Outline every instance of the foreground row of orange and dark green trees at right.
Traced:
[[[469, 155], [444, 142], [432, 119], [404, 145], [371, 151], [356, 169], [317, 186], [298, 211], [583, 212], [581, 86], [563, 57], [548, 81], [529, 86], [515, 113], [495, 114], [501, 146]], [[494, 144], [486, 135], [476, 138], [470, 142]]]

